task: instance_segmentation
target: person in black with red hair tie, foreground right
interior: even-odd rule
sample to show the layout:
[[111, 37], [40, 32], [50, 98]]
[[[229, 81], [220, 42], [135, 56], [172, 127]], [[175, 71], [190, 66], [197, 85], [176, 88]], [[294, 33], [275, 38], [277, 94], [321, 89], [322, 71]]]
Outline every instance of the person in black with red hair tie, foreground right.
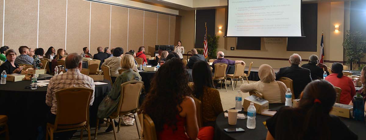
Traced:
[[282, 107], [266, 121], [266, 140], [357, 140], [337, 116], [329, 115], [336, 99], [332, 84], [325, 80], [309, 83], [299, 107]]

